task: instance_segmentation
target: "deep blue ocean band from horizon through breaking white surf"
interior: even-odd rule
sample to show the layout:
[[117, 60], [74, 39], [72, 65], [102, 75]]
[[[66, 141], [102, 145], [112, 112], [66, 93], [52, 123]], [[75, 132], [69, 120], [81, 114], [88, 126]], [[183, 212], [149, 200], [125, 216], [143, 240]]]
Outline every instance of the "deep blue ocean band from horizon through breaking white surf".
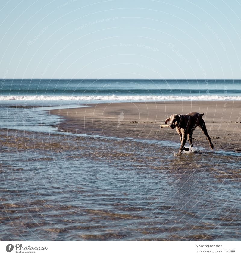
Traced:
[[16, 101], [186, 101], [241, 100], [241, 80], [3, 80], [0, 100]]

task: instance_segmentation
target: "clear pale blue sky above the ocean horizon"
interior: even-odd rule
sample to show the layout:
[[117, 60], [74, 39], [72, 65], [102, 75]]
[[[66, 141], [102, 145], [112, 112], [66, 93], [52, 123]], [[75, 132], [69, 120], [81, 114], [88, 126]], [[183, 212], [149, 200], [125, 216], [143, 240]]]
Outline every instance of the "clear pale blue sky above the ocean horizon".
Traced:
[[0, 77], [241, 79], [241, 3], [0, 3]]

